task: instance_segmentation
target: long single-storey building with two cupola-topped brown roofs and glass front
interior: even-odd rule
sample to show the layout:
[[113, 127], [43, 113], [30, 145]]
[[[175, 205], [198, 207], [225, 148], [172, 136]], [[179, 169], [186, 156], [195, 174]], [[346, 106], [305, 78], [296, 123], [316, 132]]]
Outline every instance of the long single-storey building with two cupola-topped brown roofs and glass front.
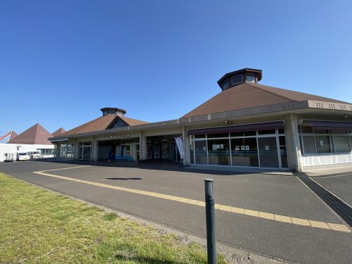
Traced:
[[244, 68], [218, 80], [221, 92], [177, 120], [147, 123], [120, 108], [51, 138], [56, 158], [181, 161], [184, 165], [303, 171], [352, 164], [352, 104], [269, 87], [262, 70]]

